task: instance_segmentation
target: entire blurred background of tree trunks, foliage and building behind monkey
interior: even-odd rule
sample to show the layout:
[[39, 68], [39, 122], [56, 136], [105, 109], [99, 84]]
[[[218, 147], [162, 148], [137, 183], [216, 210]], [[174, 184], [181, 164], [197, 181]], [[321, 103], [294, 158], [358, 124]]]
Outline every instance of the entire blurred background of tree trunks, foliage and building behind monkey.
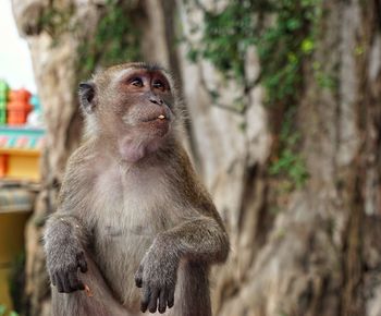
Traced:
[[0, 315], [50, 315], [77, 85], [136, 60], [177, 80], [231, 236], [214, 314], [381, 315], [380, 0], [0, 0]]

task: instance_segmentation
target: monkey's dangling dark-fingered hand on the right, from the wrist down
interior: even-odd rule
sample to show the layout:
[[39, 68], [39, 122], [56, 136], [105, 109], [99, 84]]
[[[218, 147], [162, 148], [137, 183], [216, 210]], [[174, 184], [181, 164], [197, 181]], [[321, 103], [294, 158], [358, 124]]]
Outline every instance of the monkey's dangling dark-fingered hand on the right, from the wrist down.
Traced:
[[174, 289], [179, 257], [173, 248], [158, 242], [158, 239], [144, 256], [140, 266], [135, 274], [136, 287], [142, 288], [142, 312], [147, 308], [150, 313], [157, 309], [164, 313], [167, 306], [171, 308], [174, 304]]

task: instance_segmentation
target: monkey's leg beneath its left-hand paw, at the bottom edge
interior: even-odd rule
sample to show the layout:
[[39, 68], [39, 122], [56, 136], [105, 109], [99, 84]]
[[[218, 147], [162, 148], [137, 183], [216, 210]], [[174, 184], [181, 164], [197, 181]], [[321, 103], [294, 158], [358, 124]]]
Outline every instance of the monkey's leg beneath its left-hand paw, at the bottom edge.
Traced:
[[89, 291], [59, 293], [52, 287], [52, 315], [134, 316], [114, 299], [94, 260], [86, 254], [85, 257], [88, 270], [79, 274], [79, 279]]

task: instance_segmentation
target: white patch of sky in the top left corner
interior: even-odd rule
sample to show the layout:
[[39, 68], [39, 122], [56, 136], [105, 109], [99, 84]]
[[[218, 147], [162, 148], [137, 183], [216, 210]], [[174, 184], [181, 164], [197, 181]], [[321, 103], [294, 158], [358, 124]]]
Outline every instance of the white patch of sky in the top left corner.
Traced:
[[26, 41], [19, 36], [11, 0], [0, 0], [0, 78], [11, 89], [26, 88], [37, 93]]

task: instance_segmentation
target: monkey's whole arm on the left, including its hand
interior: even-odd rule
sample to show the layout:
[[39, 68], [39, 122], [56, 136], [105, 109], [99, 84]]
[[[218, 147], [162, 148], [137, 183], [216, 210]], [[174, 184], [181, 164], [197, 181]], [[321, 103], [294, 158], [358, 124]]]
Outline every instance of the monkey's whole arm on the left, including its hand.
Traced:
[[[59, 292], [84, 290], [78, 279], [78, 269], [87, 271], [85, 250], [88, 246], [90, 227], [84, 220], [86, 214], [88, 177], [75, 168], [83, 159], [83, 149], [70, 158], [59, 196], [59, 208], [50, 216], [45, 230], [47, 268]], [[79, 161], [78, 161], [79, 160]]]

